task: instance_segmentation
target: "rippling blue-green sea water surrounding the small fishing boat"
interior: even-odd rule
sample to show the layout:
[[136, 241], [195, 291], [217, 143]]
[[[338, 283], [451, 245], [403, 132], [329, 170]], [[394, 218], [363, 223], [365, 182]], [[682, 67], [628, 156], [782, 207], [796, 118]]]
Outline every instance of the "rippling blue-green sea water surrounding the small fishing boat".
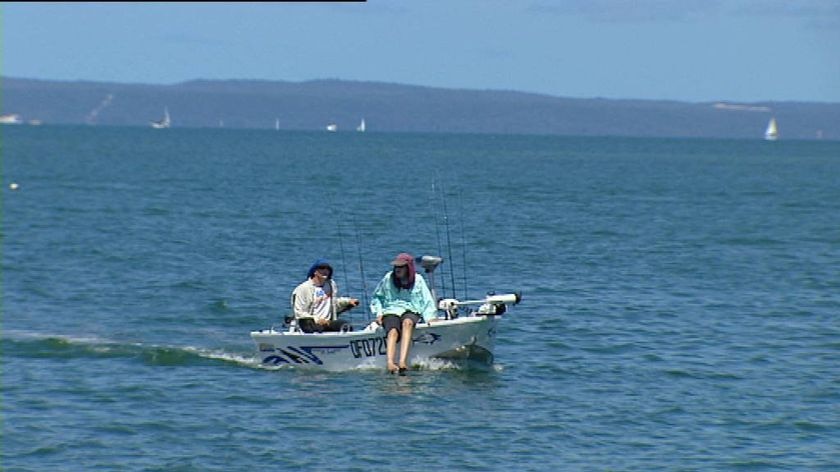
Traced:
[[[840, 470], [840, 142], [0, 132], [2, 470]], [[399, 252], [492, 365], [260, 366]]]

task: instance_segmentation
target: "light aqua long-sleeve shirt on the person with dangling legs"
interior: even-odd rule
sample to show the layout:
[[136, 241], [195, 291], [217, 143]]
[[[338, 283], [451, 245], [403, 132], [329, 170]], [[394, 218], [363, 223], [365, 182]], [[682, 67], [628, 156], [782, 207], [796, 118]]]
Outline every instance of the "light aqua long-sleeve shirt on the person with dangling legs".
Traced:
[[437, 307], [435, 300], [426, 280], [420, 274], [414, 275], [414, 287], [409, 289], [398, 289], [391, 280], [391, 272], [385, 274], [376, 290], [373, 291], [373, 298], [370, 302], [370, 311], [374, 316], [380, 315], [402, 315], [406, 311], [413, 311], [423, 316], [427, 322], [437, 318]]

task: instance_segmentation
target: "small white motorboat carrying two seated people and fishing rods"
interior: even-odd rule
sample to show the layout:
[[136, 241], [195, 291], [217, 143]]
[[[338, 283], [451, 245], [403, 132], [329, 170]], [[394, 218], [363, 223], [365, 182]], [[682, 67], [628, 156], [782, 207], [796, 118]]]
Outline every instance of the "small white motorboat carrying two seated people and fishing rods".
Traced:
[[[432, 256], [417, 259], [426, 269], [432, 296], [437, 298], [432, 272], [443, 260]], [[519, 294], [488, 295], [479, 300], [440, 300], [439, 318], [431, 323], [419, 323], [412, 333], [409, 364], [433, 362], [433, 359], [491, 363], [499, 319], [507, 311], [507, 305], [515, 305], [520, 300]], [[468, 308], [468, 313], [461, 314], [462, 307], [477, 308]], [[287, 322], [285, 329], [251, 332], [263, 366], [329, 371], [386, 367], [385, 331], [375, 321], [358, 331], [325, 333], [304, 333], [294, 320], [287, 318]]]

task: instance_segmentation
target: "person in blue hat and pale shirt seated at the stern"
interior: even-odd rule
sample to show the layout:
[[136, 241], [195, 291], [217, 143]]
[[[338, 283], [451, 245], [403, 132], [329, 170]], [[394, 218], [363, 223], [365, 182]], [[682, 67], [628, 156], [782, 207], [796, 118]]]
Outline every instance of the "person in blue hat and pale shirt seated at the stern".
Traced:
[[292, 310], [304, 333], [341, 331], [347, 324], [338, 315], [359, 305], [355, 298], [339, 297], [329, 262], [318, 259], [309, 268], [307, 279], [292, 292]]

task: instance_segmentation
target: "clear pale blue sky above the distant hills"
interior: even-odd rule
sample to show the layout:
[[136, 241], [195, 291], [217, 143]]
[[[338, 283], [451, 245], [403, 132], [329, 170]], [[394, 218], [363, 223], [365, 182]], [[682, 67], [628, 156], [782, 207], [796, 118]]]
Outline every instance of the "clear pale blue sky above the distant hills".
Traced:
[[840, 0], [7, 3], [0, 75], [840, 102]]

